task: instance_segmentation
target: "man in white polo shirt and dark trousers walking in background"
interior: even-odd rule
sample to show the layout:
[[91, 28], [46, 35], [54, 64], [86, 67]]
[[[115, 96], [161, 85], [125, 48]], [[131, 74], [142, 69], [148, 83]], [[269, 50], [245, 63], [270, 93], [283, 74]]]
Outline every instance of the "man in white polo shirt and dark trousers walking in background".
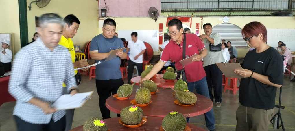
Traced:
[[145, 44], [142, 40], [137, 40], [137, 32], [131, 33], [131, 39], [128, 41], [127, 51], [130, 50], [129, 62], [128, 62], [128, 84], [131, 84], [130, 80], [133, 77], [134, 66], [137, 67], [138, 76], [142, 73], [142, 54], [145, 52]]

